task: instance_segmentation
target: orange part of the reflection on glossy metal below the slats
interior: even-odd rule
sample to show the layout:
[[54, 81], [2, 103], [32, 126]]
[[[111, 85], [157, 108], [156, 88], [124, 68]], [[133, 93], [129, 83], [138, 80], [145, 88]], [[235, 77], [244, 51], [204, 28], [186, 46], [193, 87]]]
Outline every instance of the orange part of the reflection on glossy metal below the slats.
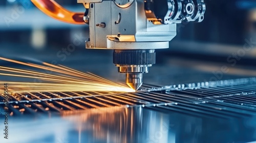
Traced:
[[[112, 107], [78, 112], [65, 111], [61, 113], [61, 116], [75, 123], [77, 131], [92, 132], [93, 138], [97, 140], [109, 138], [109, 142], [126, 142], [127, 138], [131, 138], [131, 136], [126, 135], [131, 129], [130, 126], [133, 126], [134, 119], [130, 119], [133, 112], [127, 108]], [[134, 134], [133, 130], [129, 131], [130, 133]], [[122, 138], [119, 138], [120, 136]]]

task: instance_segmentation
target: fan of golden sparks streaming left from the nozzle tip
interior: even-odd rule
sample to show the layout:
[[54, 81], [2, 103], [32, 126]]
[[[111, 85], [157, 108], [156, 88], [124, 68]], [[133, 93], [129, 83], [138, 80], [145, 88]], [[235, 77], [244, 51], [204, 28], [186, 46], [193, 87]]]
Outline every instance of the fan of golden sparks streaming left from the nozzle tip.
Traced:
[[[42, 62], [41, 64], [26, 63], [0, 57], [0, 60], [25, 65], [30, 68], [37, 68], [47, 72], [40, 72], [29, 69], [19, 69], [0, 66], [0, 75], [37, 79], [36, 82], [13, 82], [0, 81], [0, 85], [8, 83], [9, 93], [23, 92], [79, 92], [79, 91], [116, 91], [116, 92], [134, 92], [133, 89], [124, 84], [112, 82], [92, 73], [82, 73], [81, 71], [66, 67], [63, 65], [53, 65]], [[4, 86], [0, 87], [3, 94]]]

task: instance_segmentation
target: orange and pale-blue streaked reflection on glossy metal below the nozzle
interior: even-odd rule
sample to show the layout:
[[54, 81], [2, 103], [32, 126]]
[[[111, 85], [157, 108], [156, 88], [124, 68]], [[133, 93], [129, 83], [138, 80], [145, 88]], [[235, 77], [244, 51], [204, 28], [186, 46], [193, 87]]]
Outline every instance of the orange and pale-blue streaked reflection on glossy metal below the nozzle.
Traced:
[[[90, 132], [95, 142], [104, 142], [103, 140], [108, 140], [106, 142], [143, 142], [143, 140], [149, 142], [152, 139], [157, 139], [158, 142], [169, 142], [175, 140], [175, 133], [168, 131], [174, 126], [169, 125], [168, 115], [144, 111], [141, 107], [66, 111], [61, 116], [75, 123], [77, 131], [82, 130], [80, 136], [84, 136], [85, 132]], [[148, 134], [152, 134], [153, 138]], [[89, 142], [94, 142], [93, 140]]]

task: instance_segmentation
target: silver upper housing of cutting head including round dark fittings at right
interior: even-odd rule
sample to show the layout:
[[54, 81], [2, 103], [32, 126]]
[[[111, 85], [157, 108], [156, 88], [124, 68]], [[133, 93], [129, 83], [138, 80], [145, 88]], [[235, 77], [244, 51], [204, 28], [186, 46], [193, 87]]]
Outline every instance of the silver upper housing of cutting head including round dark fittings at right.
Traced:
[[[176, 36], [176, 23], [182, 20], [197, 21], [203, 20], [205, 12], [204, 1], [78, 1], [79, 3], [90, 3], [90, 44], [87, 48], [112, 48], [107, 39], [118, 38], [118, 42], [159, 42], [170, 41]], [[184, 6], [183, 6], [184, 5]], [[158, 7], [157, 7], [158, 6]], [[161, 24], [154, 24], [155, 13], [161, 13], [164, 8], [169, 10], [164, 13], [166, 16], [161, 19], [155, 15]], [[148, 9], [145, 9], [148, 8]], [[151, 12], [153, 14], [148, 15]], [[160, 14], [162, 15], [162, 13]], [[153, 16], [154, 17], [154, 16]], [[105, 28], [99, 28], [97, 23], [105, 23]], [[107, 38], [108, 37], [108, 38]], [[112, 37], [112, 38], [111, 38]], [[118, 47], [115, 47], [118, 48]], [[120, 47], [119, 47], [120, 48]], [[132, 46], [126, 49], [134, 48]], [[135, 48], [140, 48], [139, 46]], [[152, 47], [151, 47], [152, 48]], [[153, 47], [160, 49], [167, 47]]]

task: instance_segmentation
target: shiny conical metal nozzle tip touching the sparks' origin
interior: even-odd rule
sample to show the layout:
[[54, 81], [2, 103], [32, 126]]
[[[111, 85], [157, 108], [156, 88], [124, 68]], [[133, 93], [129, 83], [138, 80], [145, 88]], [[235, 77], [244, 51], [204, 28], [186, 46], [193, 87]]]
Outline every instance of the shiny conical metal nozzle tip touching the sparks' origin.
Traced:
[[142, 85], [142, 73], [126, 74], [126, 84], [137, 91]]

